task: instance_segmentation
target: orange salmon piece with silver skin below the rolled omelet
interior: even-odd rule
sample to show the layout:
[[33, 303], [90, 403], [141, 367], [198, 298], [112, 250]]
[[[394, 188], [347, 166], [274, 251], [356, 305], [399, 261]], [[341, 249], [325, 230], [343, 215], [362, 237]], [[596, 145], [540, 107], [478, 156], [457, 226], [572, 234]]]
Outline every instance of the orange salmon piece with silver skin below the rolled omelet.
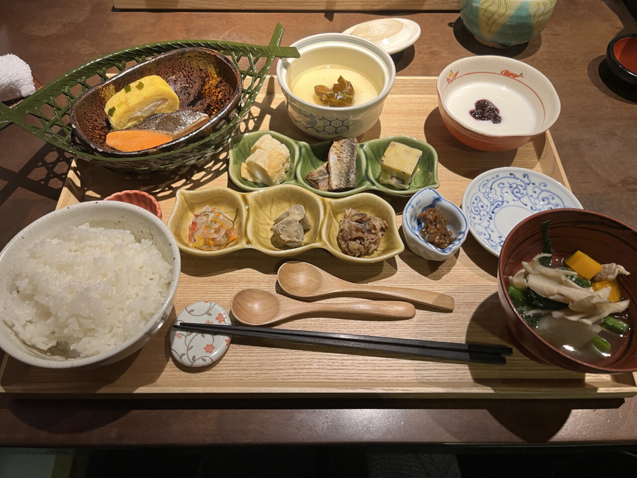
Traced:
[[209, 119], [205, 113], [188, 110], [155, 113], [140, 124], [106, 134], [106, 145], [124, 152], [154, 148], [185, 136]]

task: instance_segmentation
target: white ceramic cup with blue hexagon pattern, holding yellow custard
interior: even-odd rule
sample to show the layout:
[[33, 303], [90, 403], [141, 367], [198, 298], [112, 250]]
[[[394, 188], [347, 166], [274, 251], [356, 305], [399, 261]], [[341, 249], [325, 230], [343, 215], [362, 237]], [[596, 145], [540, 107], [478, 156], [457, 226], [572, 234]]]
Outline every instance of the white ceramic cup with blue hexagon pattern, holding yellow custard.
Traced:
[[[301, 131], [325, 140], [339, 135], [353, 138], [374, 126], [396, 78], [396, 67], [385, 50], [371, 41], [341, 33], [308, 36], [291, 46], [299, 50], [301, 57], [280, 59], [276, 78], [285, 96], [287, 113]], [[362, 73], [375, 85], [378, 96], [361, 105], [334, 108], [309, 103], [292, 93], [301, 75], [327, 65]]]

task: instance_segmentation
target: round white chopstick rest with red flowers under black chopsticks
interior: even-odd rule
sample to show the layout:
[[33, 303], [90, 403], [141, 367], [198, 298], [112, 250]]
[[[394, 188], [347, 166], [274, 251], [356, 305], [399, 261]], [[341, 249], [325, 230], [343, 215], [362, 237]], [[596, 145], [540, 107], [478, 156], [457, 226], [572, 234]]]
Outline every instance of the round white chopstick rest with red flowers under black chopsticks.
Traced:
[[[220, 305], [210, 302], [190, 304], [180, 312], [175, 324], [196, 322], [198, 324], [232, 325], [228, 313]], [[230, 345], [227, 335], [170, 331], [170, 351], [177, 363], [189, 367], [204, 367], [220, 359]]]

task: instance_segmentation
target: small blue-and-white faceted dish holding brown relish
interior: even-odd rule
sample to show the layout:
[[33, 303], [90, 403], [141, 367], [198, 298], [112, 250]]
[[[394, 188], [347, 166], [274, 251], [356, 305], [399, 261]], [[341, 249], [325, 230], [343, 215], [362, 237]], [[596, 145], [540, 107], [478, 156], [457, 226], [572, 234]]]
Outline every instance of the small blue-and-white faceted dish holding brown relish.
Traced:
[[[422, 222], [418, 219], [418, 215], [426, 209], [436, 207], [438, 213], [447, 219], [447, 229], [454, 235], [454, 242], [445, 249], [438, 249], [420, 235]], [[460, 249], [467, 238], [467, 220], [458, 206], [447, 201], [435, 189], [425, 187], [416, 192], [404, 206], [403, 234], [409, 249], [417, 256], [429, 261], [445, 261]]]

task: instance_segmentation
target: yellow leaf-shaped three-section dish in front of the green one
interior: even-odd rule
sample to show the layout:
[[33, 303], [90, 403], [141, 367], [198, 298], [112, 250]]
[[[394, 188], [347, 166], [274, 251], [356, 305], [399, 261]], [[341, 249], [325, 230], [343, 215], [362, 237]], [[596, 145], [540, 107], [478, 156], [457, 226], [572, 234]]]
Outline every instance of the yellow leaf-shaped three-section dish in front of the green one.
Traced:
[[[311, 222], [311, 229], [304, 235], [303, 245], [294, 249], [277, 249], [270, 238], [275, 217], [291, 206], [301, 204]], [[195, 214], [204, 206], [214, 206], [234, 220], [238, 239], [224, 249], [199, 250], [192, 247], [188, 235]], [[336, 236], [345, 210], [354, 208], [387, 222], [387, 231], [380, 246], [369, 256], [352, 257], [343, 254]], [[392, 206], [375, 194], [362, 192], [348, 198], [321, 198], [303, 187], [291, 184], [271, 186], [259, 191], [236, 192], [222, 186], [198, 191], [178, 191], [173, 214], [168, 219], [168, 228], [175, 236], [179, 249], [200, 257], [218, 257], [239, 249], [257, 249], [269, 256], [291, 257], [310, 249], [326, 249], [334, 257], [355, 263], [384, 261], [404, 250], [398, 235], [396, 213]]]

